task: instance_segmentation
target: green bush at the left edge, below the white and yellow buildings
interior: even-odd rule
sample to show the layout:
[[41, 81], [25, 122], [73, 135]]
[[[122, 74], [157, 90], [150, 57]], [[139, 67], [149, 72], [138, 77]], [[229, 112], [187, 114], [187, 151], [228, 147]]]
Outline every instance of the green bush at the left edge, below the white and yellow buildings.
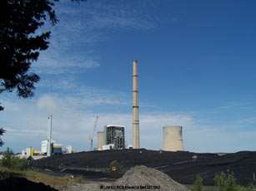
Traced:
[[20, 159], [13, 154], [13, 150], [7, 148], [3, 153], [3, 158], [0, 161], [0, 165], [8, 169], [26, 170], [28, 169], [27, 159]]

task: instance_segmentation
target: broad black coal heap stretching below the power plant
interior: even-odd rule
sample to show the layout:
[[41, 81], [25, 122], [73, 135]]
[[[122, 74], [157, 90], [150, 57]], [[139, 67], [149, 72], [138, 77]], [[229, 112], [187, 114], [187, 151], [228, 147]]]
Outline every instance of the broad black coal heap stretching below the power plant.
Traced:
[[[194, 155], [197, 156], [195, 160], [193, 160]], [[53, 155], [33, 160], [30, 164], [56, 172], [83, 174], [98, 179], [118, 179], [122, 174], [103, 172], [113, 160], [118, 160], [126, 170], [135, 165], [158, 169], [181, 184], [193, 184], [197, 174], [200, 174], [203, 177], [203, 184], [213, 185], [214, 175], [227, 170], [233, 171], [238, 184], [248, 184], [253, 181], [253, 172], [256, 172], [256, 152], [249, 151], [218, 155], [147, 149], [105, 150]]]

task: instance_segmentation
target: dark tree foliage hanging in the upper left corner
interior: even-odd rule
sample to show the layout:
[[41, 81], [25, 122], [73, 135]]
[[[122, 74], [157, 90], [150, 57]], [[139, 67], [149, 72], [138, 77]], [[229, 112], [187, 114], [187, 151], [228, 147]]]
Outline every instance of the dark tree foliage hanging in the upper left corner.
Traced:
[[[18, 97], [33, 96], [34, 84], [40, 78], [28, 71], [33, 61], [38, 60], [39, 51], [48, 48], [50, 37], [50, 31], [36, 32], [45, 22], [53, 25], [58, 22], [53, 9], [56, 2], [58, 0], [0, 1], [0, 93], [16, 89]], [[1, 105], [0, 110], [3, 110]], [[3, 132], [0, 129], [0, 135]]]

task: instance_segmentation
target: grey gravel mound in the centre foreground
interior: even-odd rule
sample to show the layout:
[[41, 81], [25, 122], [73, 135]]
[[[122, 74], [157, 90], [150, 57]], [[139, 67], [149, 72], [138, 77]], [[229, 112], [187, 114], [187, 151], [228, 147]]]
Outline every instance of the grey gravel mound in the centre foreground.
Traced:
[[167, 174], [143, 165], [129, 169], [113, 184], [113, 187], [115, 190], [188, 191], [185, 186], [177, 183]]

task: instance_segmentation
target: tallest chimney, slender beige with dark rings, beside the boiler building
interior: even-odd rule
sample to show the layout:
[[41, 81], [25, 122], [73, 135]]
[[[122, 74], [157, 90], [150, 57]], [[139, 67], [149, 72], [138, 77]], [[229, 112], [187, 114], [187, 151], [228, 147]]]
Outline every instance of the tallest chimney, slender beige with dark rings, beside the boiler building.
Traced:
[[137, 61], [133, 61], [133, 149], [139, 149]]

